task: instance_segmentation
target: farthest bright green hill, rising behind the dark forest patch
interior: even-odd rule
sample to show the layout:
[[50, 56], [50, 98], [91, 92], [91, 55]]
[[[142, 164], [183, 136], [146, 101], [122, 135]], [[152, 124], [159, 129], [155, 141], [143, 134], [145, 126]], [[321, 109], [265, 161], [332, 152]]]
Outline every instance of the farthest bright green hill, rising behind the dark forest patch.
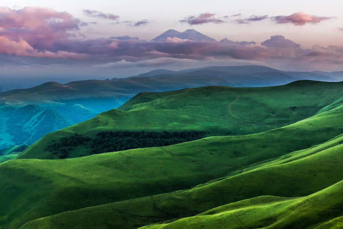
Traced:
[[[93, 119], [44, 136], [19, 158], [57, 159], [58, 156], [50, 155], [46, 147], [53, 144], [52, 140], [58, 141], [75, 132], [90, 137], [103, 130], [196, 129], [208, 130], [212, 136], [227, 135], [229, 131], [234, 135], [258, 133], [295, 123], [340, 105], [342, 85], [343, 82], [297, 81], [266, 88], [213, 86], [140, 93], [123, 104], [120, 110], [104, 112]], [[338, 128], [334, 123], [332, 126]], [[322, 129], [323, 126], [320, 128], [321, 131], [327, 131]], [[340, 133], [332, 132], [324, 140]], [[89, 146], [88, 149], [85, 147], [75, 147], [70, 151], [70, 157], [79, 157], [91, 151]]]

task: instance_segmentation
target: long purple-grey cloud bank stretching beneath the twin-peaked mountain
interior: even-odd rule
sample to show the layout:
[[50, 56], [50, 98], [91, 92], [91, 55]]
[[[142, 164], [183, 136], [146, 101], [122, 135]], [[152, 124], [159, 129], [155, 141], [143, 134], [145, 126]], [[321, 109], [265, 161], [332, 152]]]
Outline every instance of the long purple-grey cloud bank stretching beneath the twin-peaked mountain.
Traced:
[[[68, 47], [68, 48], [66, 48]], [[331, 46], [330, 46], [331, 47]], [[62, 49], [62, 48], [61, 48]], [[83, 53], [90, 59], [117, 62], [141, 62], [164, 58], [207, 60], [245, 60], [287, 66], [316, 67], [338, 66], [343, 62], [343, 48], [331, 47], [320, 50], [302, 49], [301, 46], [283, 36], [276, 35], [256, 44], [255, 42], [208, 42], [181, 38], [165, 38], [157, 42], [133, 39], [89, 39], [74, 41], [64, 46], [63, 51]], [[172, 61], [171, 61], [172, 62]]]

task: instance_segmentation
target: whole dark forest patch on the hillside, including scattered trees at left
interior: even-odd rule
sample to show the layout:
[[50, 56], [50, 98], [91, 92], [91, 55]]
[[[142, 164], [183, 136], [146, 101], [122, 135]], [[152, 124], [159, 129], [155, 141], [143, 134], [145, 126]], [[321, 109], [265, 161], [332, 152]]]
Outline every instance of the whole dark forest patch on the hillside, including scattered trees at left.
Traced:
[[[50, 142], [46, 150], [51, 152], [50, 159], [54, 155], [59, 159], [70, 157], [71, 151], [77, 147], [78, 152], [83, 152], [79, 157], [98, 153], [115, 152], [128, 149], [161, 147], [175, 145], [182, 142], [194, 141], [209, 134], [205, 130], [184, 131], [101, 131], [94, 136], [83, 136], [75, 133], [70, 137], [62, 137], [60, 142]], [[82, 149], [83, 150], [82, 150]], [[74, 156], [73, 156], [74, 157]]]

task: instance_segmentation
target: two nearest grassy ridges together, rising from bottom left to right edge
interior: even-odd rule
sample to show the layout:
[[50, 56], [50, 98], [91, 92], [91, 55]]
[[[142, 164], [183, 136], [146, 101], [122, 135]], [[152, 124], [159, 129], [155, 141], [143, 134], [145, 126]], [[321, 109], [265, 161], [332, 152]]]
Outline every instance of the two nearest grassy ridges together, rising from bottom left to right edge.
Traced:
[[133, 229], [156, 223], [143, 228], [330, 228], [341, 224], [343, 214], [342, 140], [341, 135], [190, 190], [67, 211], [21, 229]]

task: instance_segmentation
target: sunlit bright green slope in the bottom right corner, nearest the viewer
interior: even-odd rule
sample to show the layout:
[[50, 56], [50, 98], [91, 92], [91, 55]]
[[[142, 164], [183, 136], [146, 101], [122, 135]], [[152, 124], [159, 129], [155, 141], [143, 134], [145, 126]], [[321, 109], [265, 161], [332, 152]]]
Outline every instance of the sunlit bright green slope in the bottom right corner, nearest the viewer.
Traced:
[[[197, 216], [169, 224], [143, 226], [140, 229], [235, 229], [235, 228], [298, 228], [334, 227], [343, 215], [343, 181], [309, 196], [282, 198], [260, 196], [220, 206]], [[342, 219], [340, 219], [342, 220]], [[342, 221], [340, 221], [342, 226]]]

